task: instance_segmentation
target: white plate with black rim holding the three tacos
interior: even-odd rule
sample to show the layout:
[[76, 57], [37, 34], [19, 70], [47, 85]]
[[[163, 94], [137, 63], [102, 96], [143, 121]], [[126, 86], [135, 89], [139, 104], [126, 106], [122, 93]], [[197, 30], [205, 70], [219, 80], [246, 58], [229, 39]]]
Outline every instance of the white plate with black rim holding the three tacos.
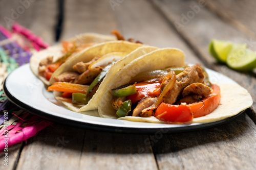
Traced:
[[[206, 69], [212, 82], [236, 83], [222, 74]], [[217, 126], [238, 117], [228, 117], [214, 123], [201, 124], [153, 124], [130, 122], [127, 120], [116, 120], [92, 116], [97, 110], [76, 113], [60, 106], [52, 92], [46, 91], [44, 84], [30, 70], [29, 64], [23, 65], [14, 70], [5, 80], [4, 91], [8, 99], [18, 107], [38, 115], [40, 117], [75, 127], [92, 130], [126, 132], [126, 133], [168, 133], [198, 130]]]

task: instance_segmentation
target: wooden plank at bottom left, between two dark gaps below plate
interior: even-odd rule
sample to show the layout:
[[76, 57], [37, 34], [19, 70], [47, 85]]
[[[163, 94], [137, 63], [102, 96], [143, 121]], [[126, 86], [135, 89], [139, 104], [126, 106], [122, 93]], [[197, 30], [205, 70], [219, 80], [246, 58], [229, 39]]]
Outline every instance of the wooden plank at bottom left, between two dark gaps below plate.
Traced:
[[16, 169], [77, 169], [85, 130], [54, 124], [27, 141]]

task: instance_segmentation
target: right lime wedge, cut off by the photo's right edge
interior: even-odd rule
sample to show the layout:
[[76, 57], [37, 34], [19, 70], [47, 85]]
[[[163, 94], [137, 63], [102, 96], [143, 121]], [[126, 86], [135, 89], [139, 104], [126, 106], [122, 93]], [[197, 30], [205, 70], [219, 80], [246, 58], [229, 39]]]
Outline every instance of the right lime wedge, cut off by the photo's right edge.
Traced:
[[250, 71], [256, 67], [256, 53], [246, 46], [233, 47], [227, 56], [227, 65], [240, 71]]

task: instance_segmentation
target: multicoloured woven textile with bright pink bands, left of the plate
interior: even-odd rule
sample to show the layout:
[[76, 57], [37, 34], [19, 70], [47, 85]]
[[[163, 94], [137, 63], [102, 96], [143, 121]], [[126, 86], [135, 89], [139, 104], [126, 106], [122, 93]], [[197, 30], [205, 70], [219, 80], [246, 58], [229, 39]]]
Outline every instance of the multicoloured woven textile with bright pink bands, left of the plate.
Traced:
[[[6, 30], [4, 27], [0, 25], [0, 41], [7, 42], [6, 44], [2, 43], [0, 45], [0, 50], [2, 50], [2, 53], [0, 54], [0, 57], [3, 57], [5, 60], [3, 64], [6, 64], [5, 68], [7, 68], [7, 71], [13, 70], [16, 67], [10, 67], [10, 65], [13, 64], [19, 64], [23, 65], [29, 61], [29, 58], [31, 57], [30, 48], [34, 48], [36, 51], [40, 51], [41, 49], [47, 48], [49, 45], [42, 41], [40, 37], [35, 36], [30, 30], [18, 25], [14, 24], [12, 27], [13, 33], [15, 35], [20, 36], [22, 39], [22, 43], [17, 43], [15, 40], [11, 41], [5, 41], [6, 39], [12, 38], [12, 33], [10, 33], [8, 30]], [[30, 44], [30, 45], [27, 45]], [[5, 49], [7, 48], [7, 49]], [[15, 49], [14, 49], [15, 48]], [[5, 50], [8, 51], [18, 51], [17, 54], [15, 54], [15, 58], [12, 56], [13, 54], [5, 54]], [[27, 56], [20, 56], [20, 54], [26, 53]], [[1, 56], [2, 55], [2, 56]], [[18, 57], [17, 57], [18, 55]], [[12, 59], [12, 60], [11, 60]], [[13, 63], [13, 59], [14, 61]], [[0, 60], [1, 61], [1, 60]], [[8, 63], [10, 61], [10, 63]], [[8, 73], [9, 73], [8, 72]], [[1, 84], [0, 84], [1, 85]], [[5, 98], [3, 95], [3, 91], [0, 91], [2, 96], [0, 98]], [[2, 102], [2, 103], [1, 103]], [[4, 101], [0, 102], [0, 111], [8, 112], [8, 116], [4, 116], [3, 114], [0, 114], [0, 122], [3, 123], [2, 129], [0, 129], [0, 151], [4, 150], [6, 147], [10, 147], [13, 144], [22, 142], [24, 140], [29, 139], [32, 136], [35, 136], [39, 131], [46, 128], [49, 125], [52, 125], [52, 122], [49, 122], [48, 120], [44, 120], [40, 117], [31, 115], [27, 112], [19, 112], [19, 115], [16, 115], [13, 113], [14, 110], [19, 110], [14, 104], [7, 101], [5, 98]], [[12, 113], [12, 114], [11, 114]], [[18, 120], [16, 120], [18, 119]], [[8, 120], [16, 120], [11, 125], [8, 124]], [[12, 122], [13, 122], [12, 121]], [[0, 125], [1, 125], [0, 124]]]

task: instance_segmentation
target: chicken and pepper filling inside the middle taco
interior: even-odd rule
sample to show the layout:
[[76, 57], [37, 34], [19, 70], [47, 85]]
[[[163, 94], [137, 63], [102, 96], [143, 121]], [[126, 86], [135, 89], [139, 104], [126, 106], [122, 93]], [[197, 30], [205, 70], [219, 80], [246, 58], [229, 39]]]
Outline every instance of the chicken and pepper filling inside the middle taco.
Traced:
[[48, 91], [62, 92], [59, 100], [87, 104], [110, 67], [126, 55], [127, 53], [114, 52], [101, 57], [96, 56], [89, 62], [78, 62], [73, 65], [73, 71], [65, 71], [53, 77], [55, 83], [48, 87]]

